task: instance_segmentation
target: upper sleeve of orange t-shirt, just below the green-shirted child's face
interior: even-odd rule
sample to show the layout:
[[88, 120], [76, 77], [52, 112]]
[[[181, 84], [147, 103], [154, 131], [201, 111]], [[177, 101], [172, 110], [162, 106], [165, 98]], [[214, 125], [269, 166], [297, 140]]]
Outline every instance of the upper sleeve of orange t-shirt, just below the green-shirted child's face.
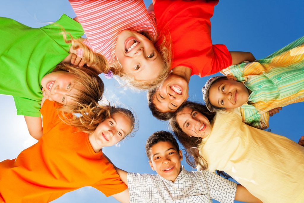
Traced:
[[57, 108], [61, 106], [62, 104], [54, 101], [44, 101], [40, 110], [42, 114], [43, 134], [52, 129], [58, 122], [61, 121], [57, 113]]

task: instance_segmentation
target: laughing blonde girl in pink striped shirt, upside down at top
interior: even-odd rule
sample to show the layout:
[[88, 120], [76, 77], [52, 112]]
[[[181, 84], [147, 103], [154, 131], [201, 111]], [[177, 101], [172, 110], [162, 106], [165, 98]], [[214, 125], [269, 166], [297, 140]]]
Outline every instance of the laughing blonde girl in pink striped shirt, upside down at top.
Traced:
[[[114, 75], [130, 85], [150, 89], [170, 67], [166, 43], [154, 47], [158, 34], [154, 11], [139, 0], [69, 0], [88, 37], [83, 41], [110, 63]], [[81, 51], [78, 51], [81, 57]]]

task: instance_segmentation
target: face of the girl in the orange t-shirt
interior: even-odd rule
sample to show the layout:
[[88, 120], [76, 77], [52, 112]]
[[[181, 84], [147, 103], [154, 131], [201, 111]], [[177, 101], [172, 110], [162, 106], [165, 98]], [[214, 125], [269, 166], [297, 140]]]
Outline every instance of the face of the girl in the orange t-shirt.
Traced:
[[102, 147], [115, 145], [122, 140], [130, 133], [130, 128], [130, 118], [117, 112], [100, 123], [89, 135], [89, 140], [95, 152], [98, 152]]

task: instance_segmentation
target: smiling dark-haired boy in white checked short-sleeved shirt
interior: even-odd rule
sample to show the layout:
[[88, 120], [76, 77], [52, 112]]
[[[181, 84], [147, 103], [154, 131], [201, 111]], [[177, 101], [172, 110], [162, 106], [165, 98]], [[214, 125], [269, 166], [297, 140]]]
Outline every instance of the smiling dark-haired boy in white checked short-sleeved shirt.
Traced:
[[176, 139], [157, 131], [147, 140], [146, 153], [157, 175], [127, 173], [116, 168], [129, 187], [130, 202], [261, 202], [241, 185], [208, 170], [187, 171]]

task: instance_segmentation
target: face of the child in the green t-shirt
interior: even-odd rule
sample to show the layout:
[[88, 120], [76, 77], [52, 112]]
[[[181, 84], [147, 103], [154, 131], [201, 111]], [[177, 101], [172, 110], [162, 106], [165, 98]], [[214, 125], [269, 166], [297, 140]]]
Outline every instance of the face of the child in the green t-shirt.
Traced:
[[77, 94], [80, 87], [76, 82], [76, 77], [66, 71], [56, 71], [45, 75], [41, 80], [44, 89], [44, 97], [64, 105], [73, 103], [71, 96]]

